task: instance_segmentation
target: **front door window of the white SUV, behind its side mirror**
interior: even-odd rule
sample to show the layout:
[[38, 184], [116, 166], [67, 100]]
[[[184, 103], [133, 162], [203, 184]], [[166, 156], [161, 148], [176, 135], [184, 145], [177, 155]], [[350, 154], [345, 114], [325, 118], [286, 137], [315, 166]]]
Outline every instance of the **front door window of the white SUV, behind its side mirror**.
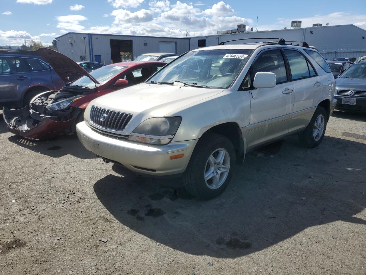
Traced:
[[276, 84], [287, 81], [285, 62], [279, 49], [263, 52], [253, 63], [252, 70], [253, 77], [258, 72], [270, 72], [276, 74]]

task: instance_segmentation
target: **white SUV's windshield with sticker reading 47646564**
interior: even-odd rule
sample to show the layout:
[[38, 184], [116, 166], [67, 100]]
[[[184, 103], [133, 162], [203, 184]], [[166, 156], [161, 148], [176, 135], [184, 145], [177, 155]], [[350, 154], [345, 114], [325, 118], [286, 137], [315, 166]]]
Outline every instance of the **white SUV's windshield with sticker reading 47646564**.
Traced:
[[150, 81], [180, 81], [209, 88], [228, 88], [244, 66], [251, 49], [212, 49], [188, 52], [173, 60]]

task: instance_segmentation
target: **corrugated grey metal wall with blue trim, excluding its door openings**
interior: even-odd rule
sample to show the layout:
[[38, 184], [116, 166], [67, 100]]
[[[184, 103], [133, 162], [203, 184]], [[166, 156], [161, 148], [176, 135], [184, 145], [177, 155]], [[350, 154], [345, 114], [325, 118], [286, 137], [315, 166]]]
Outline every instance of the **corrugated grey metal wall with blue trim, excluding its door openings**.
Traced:
[[134, 58], [149, 52], [159, 52], [159, 41], [176, 42], [176, 54], [183, 54], [190, 49], [189, 38], [68, 33], [57, 38], [59, 40], [57, 41], [57, 50], [74, 61], [81, 61], [80, 57], [85, 55], [84, 38], [82, 37], [86, 37], [87, 61], [94, 61], [94, 56], [100, 55], [102, 63], [105, 64], [111, 64], [111, 39], [132, 40]]

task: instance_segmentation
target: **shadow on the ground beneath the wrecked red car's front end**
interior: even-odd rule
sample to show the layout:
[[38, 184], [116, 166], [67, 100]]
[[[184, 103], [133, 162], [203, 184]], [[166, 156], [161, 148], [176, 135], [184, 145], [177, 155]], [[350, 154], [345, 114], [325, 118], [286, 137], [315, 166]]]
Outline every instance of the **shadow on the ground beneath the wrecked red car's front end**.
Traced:
[[49, 140], [30, 140], [20, 136], [10, 136], [8, 140], [28, 150], [59, 158], [64, 155], [73, 155], [81, 159], [97, 158], [97, 156], [86, 150], [76, 135], [60, 135]]

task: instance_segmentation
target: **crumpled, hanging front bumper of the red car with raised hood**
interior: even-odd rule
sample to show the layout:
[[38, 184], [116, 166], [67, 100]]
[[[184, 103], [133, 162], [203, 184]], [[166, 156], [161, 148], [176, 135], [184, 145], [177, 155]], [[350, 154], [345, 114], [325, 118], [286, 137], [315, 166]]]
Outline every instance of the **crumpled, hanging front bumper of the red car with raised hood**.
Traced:
[[36, 121], [30, 116], [29, 109], [26, 106], [19, 110], [11, 110], [4, 107], [3, 118], [9, 132], [27, 139], [43, 140], [65, 132], [74, 125], [76, 116], [62, 122], [54, 121], [47, 117], [42, 118], [41, 121]]

